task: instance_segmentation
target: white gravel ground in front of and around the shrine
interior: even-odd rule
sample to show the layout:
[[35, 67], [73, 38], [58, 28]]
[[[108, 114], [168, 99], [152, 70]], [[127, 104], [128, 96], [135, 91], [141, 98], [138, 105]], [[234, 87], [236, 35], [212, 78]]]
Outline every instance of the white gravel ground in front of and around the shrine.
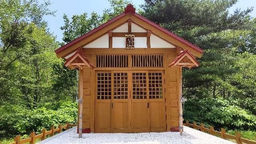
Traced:
[[[46, 139], [47, 140], [47, 139]], [[228, 140], [184, 126], [179, 132], [151, 132], [131, 134], [83, 134], [78, 138], [76, 128], [40, 144], [234, 144]]]

